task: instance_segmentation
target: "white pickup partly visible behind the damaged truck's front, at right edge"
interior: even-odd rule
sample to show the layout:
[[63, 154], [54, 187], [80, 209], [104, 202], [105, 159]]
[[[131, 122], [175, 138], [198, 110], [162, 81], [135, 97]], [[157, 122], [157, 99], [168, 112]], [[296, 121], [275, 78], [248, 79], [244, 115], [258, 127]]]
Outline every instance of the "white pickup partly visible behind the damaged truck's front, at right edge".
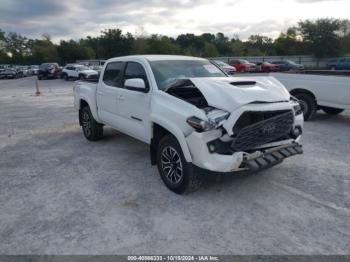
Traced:
[[317, 110], [327, 114], [340, 114], [350, 109], [350, 77], [333, 75], [308, 75], [271, 73], [280, 81], [302, 107], [305, 120], [310, 120]]

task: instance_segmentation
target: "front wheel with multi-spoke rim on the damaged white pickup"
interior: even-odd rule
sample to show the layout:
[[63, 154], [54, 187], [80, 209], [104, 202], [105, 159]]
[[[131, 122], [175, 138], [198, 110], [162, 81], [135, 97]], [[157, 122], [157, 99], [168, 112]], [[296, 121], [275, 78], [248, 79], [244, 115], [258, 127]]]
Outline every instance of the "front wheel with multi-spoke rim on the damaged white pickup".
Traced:
[[157, 148], [157, 166], [164, 184], [176, 194], [196, 191], [201, 181], [191, 163], [187, 163], [181, 147], [172, 135], [164, 136]]

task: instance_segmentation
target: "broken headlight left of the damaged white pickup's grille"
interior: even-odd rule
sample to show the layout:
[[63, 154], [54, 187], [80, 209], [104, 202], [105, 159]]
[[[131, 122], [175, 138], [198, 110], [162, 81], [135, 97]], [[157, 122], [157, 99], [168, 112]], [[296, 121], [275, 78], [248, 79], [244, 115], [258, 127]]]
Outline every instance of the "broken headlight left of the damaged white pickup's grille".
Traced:
[[208, 120], [203, 120], [196, 116], [191, 116], [187, 118], [187, 124], [189, 124], [198, 132], [206, 132], [218, 128], [229, 116], [230, 114], [227, 112], [223, 112], [223, 114], [209, 118]]

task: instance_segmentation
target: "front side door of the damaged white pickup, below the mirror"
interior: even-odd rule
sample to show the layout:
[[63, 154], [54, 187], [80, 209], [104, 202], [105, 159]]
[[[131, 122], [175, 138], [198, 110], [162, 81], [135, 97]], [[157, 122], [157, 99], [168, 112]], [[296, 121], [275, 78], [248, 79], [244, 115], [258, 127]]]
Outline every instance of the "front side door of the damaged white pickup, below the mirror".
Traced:
[[148, 76], [143, 65], [127, 62], [124, 70], [123, 88], [118, 88], [118, 129], [146, 143], [149, 142], [150, 92], [126, 89], [125, 80], [142, 78], [149, 89]]

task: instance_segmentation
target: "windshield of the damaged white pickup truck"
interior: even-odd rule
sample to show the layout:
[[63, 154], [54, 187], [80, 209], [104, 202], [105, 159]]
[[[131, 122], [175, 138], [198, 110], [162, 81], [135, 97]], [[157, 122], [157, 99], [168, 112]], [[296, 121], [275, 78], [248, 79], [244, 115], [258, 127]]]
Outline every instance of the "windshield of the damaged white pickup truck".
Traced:
[[160, 90], [165, 90], [178, 79], [226, 77], [207, 60], [161, 60], [151, 61], [150, 65]]

